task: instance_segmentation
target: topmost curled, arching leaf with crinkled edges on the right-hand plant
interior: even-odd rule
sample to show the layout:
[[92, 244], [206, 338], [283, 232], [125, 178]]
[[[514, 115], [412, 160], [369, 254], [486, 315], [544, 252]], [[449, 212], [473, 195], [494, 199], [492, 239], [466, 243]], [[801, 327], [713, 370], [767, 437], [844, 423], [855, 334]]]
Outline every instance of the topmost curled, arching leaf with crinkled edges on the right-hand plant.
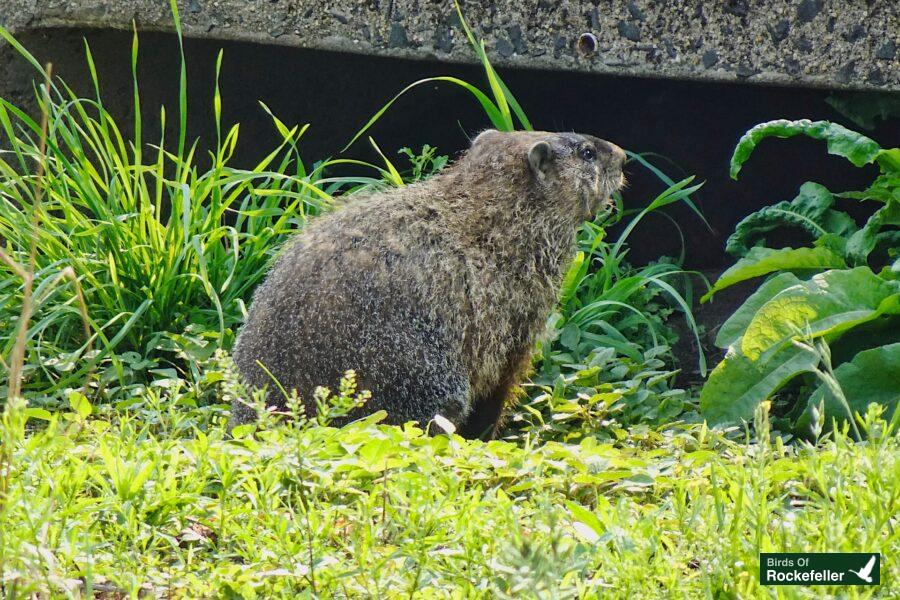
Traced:
[[737, 179], [741, 165], [747, 162], [760, 141], [767, 137], [789, 138], [796, 135], [824, 140], [828, 144], [829, 154], [843, 156], [857, 167], [873, 162], [882, 153], [881, 146], [875, 140], [837, 123], [779, 119], [760, 123], [741, 137], [731, 156], [731, 178]]

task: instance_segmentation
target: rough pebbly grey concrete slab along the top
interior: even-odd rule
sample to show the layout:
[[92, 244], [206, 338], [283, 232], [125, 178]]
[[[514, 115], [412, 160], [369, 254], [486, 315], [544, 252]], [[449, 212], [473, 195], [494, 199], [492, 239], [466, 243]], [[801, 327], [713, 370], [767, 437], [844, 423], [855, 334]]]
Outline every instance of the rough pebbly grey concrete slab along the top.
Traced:
[[[452, 3], [180, 0], [188, 36], [471, 62]], [[898, 0], [501, 0], [463, 2], [500, 65], [607, 74], [900, 90]], [[0, 0], [13, 32], [171, 31], [162, 0]], [[598, 40], [576, 51], [583, 33]]]

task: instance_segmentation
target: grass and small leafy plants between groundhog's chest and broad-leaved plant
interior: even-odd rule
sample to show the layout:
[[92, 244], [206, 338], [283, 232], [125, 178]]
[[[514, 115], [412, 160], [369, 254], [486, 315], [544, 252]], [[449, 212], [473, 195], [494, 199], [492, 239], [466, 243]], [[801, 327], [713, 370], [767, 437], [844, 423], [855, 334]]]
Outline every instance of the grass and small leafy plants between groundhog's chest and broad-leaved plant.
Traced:
[[[632, 155], [651, 170], [642, 155]], [[668, 178], [658, 172], [664, 181]], [[689, 418], [693, 406], [675, 387], [677, 370], [671, 344], [677, 336], [671, 319], [683, 316], [698, 347], [699, 369], [706, 363], [691, 305], [692, 277], [682, 256], [643, 266], [627, 262], [628, 237], [648, 215], [675, 202], [689, 204], [700, 184], [693, 178], [669, 182], [646, 207], [625, 210], [616, 196], [613, 210], [584, 223], [579, 250], [563, 277], [557, 309], [548, 319], [547, 336], [538, 343], [535, 372], [504, 432], [507, 437], [578, 440], [624, 435], [625, 427]], [[624, 223], [606, 239], [608, 228]], [[677, 223], [676, 231], [680, 233]], [[702, 276], [701, 276], [702, 278]]]

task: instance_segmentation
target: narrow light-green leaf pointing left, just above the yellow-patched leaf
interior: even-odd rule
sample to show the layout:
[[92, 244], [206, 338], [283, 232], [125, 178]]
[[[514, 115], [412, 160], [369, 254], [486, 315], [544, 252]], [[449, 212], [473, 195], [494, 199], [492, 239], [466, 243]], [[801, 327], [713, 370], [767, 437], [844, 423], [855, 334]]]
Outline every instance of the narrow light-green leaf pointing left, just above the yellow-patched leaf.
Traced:
[[747, 256], [722, 273], [712, 288], [700, 298], [700, 302], [707, 302], [716, 292], [736, 283], [768, 275], [775, 271], [824, 271], [844, 266], [846, 266], [844, 259], [830, 248], [781, 248], [773, 250], [757, 246], [751, 248]]

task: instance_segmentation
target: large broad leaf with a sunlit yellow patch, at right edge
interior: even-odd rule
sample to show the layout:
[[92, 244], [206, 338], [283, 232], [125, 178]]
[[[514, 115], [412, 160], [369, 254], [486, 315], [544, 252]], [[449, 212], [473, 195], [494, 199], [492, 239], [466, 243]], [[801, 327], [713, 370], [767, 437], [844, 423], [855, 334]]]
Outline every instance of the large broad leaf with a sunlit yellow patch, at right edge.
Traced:
[[883, 314], [900, 313], [900, 284], [868, 267], [832, 270], [789, 287], [763, 305], [747, 325], [741, 352], [751, 360], [798, 334], [840, 333]]

